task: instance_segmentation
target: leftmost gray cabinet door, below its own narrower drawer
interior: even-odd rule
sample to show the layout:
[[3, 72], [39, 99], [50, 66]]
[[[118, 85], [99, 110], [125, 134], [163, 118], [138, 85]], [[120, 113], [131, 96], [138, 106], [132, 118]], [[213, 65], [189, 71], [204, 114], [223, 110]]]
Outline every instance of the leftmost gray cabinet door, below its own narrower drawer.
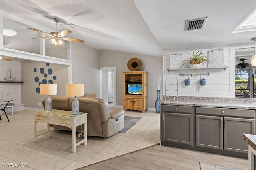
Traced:
[[193, 144], [193, 117], [190, 114], [163, 113], [162, 140]]

